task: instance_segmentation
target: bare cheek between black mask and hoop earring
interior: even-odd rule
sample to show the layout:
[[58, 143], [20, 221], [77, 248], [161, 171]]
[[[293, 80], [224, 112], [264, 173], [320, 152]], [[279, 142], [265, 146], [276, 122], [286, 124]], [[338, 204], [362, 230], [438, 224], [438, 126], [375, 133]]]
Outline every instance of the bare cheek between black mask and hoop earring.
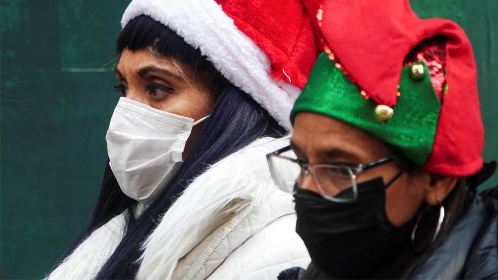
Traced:
[[424, 202], [424, 188], [408, 174], [386, 189], [386, 212], [396, 226], [410, 221]]

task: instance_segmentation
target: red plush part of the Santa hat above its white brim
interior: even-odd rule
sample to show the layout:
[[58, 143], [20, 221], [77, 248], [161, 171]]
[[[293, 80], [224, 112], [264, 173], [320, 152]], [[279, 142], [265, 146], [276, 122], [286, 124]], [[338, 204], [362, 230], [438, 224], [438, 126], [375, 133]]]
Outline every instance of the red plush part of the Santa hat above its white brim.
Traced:
[[315, 62], [313, 29], [304, 5], [298, 0], [216, 0], [234, 20], [235, 26], [250, 37], [268, 56], [270, 74], [277, 80], [303, 88]]

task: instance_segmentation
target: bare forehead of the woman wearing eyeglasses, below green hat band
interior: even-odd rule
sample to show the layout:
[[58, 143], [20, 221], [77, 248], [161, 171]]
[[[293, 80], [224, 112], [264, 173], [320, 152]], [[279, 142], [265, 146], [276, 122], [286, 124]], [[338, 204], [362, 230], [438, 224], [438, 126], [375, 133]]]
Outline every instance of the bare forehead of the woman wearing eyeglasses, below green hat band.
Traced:
[[389, 147], [370, 134], [353, 125], [313, 112], [296, 115], [292, 142], [308, 156], [332, 149], [355, 154], [363, 160], [390, 154]]

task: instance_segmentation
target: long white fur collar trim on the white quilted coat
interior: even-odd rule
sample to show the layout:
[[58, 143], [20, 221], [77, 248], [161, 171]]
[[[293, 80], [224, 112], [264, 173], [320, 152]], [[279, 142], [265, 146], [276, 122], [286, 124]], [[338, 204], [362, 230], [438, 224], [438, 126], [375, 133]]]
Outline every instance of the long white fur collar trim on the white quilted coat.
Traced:
[[146, 240], [138, 278], [170, 279], [178, 261], [224, 219], [261, 205], [277, 189], [265, 155], [285, 145], [288, 139], [259, 139], [198, 176]]

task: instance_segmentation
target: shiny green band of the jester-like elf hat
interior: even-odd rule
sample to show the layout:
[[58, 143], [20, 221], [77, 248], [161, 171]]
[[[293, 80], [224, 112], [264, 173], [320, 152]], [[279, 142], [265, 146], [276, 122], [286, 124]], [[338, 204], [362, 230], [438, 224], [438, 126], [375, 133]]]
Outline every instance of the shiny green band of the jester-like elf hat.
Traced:
[[[441, 104], [424, 65], [424, 79], [413, 80], [411, 66], [402, 69], [400, 92], [394, 114], [386, 123], [375, 117], [377, 104], [365, 99], [359, 88], [335, 67], [327, 54], [322, 53], [313, 65], [308, 84], [297, 98], [291, 112], [294, 122], [298, 112], [308, 111], [327, 115], [374, 135], [399, 148], [419, 166], [429, 159]], [[393, 93], [394, 94], [394, 93]]]

